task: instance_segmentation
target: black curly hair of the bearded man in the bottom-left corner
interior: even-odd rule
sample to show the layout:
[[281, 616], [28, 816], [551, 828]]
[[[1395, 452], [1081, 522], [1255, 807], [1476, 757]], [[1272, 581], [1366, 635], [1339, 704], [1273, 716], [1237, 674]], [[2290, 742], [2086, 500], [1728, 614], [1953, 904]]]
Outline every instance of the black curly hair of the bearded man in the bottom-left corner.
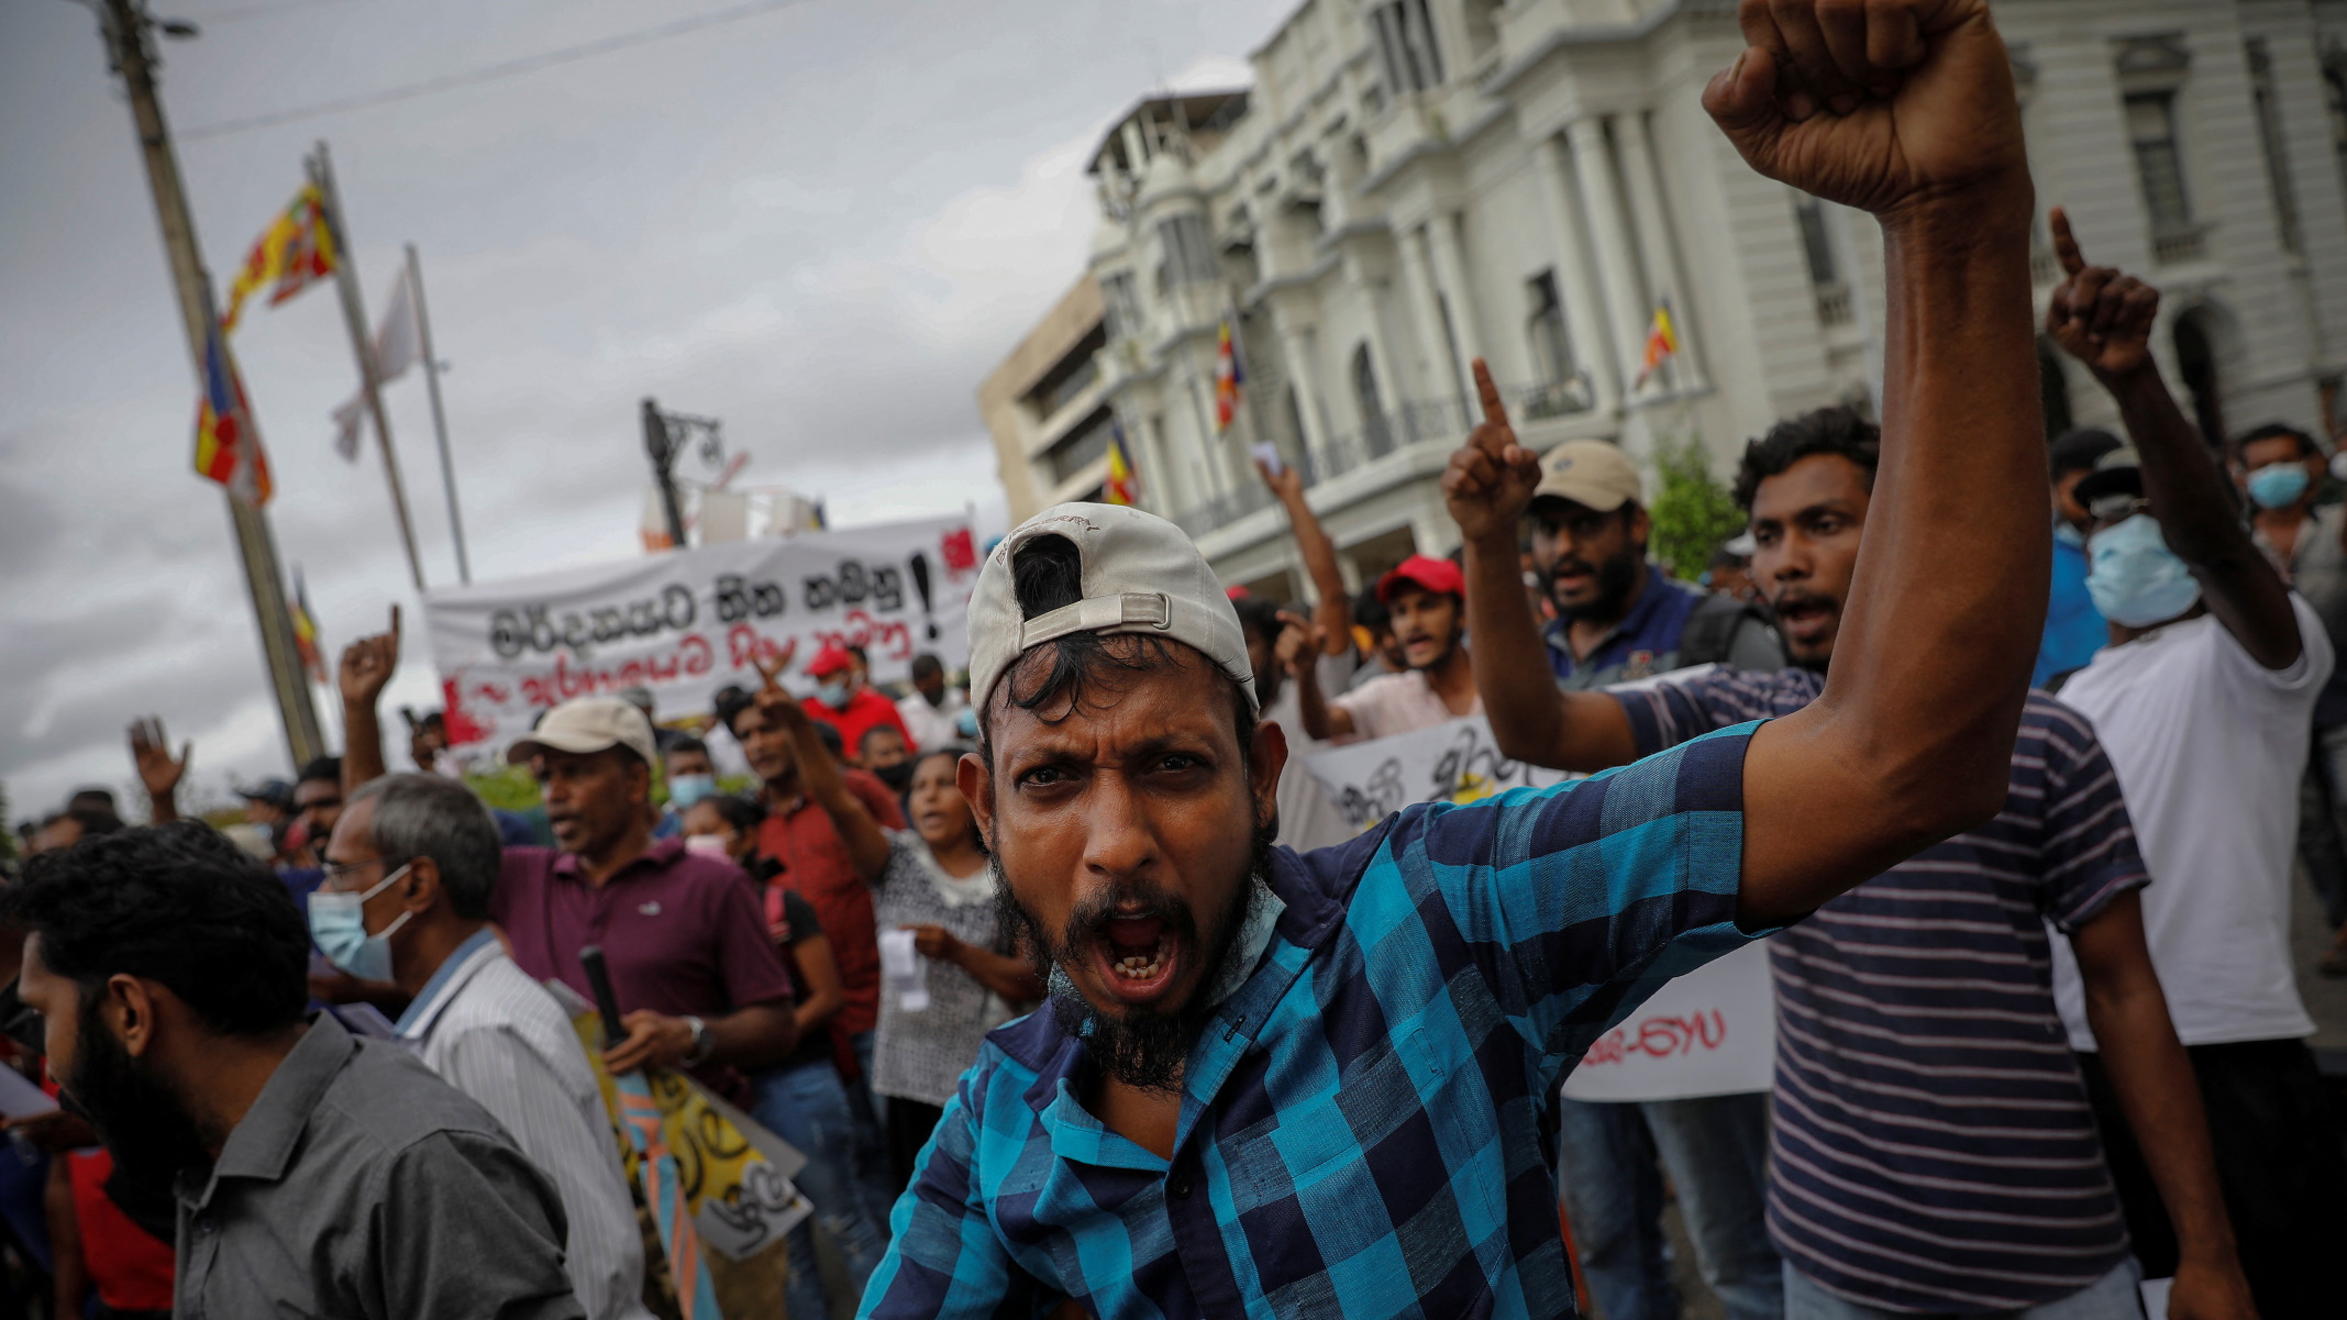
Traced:
[[286, 886], [209, 825], [176, 821], [35, 856], [0, 921], [82, 985], [157, 980], [223, 1036], [291, 1027], [310, 1003], [310, 926]]

